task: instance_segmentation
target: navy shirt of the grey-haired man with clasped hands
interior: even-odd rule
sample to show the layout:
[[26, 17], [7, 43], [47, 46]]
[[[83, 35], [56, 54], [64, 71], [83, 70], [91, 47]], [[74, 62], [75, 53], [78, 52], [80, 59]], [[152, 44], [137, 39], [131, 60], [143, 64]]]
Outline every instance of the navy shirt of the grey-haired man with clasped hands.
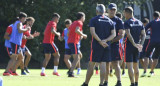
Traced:
[[[111, 35], [111, 30], [115, 29], [113, 21], [107, 16], [98, 15], [90, 20], [89, 27], [94, 27], [98, 37], [103, 40]], [[97, 40], [92, 40], [92, 45], [99, 44]], [[110, 42], [108, 42], [110, 44]]]

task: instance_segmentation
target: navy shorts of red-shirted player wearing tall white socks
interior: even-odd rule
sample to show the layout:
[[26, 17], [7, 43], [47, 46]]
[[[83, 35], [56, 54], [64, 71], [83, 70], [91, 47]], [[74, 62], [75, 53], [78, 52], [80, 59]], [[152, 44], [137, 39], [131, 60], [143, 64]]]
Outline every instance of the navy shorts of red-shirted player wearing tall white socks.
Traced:
[[44, 48], [44, 53], [46, 53], [46, 54], [58, 52], [58, 48], [54, 43], [52, 43], [52, 44], [43, 43], [43, 48]]

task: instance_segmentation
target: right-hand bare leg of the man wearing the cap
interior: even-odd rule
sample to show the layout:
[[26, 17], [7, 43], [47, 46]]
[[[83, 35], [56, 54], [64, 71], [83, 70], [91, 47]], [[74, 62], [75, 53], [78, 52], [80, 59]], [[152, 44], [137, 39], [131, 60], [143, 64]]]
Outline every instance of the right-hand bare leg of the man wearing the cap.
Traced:
[[116, 77], [117, 77], [117, 85], [120, 86], [121, 85], [121, 68], [119, 65], [120, 61], [113, 61], [112, 65], [115, 69], [115, 73], [116, 73]]

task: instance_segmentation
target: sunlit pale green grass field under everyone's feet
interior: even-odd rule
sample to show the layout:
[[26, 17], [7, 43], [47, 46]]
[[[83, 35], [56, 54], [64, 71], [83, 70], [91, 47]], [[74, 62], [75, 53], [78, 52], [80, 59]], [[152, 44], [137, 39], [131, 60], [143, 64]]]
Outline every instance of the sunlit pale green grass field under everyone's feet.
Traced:
[[[81, 74], [78, 78], [68, 78], [67, 70], [61, 69], [59, 73], [60, 77], [53, 76], [53, 70], [46, 70], [46, 77], [40, 76], [40, 69], [31, 69], [31, 73], [27, 76], [2, 76], [4, 72], [3, 69], [0, 70], [0, 76], [3, 78], [4, 86], [80, 86], [84, 80], [86, 75], [86, 70], [82, 70]], [[127, 71], [127, 70], [126, 70]], [[20, 74], [20, 70], [17, 71]], [[76, 71], [75, 71], [76, 72]], [[139, 79], [139, 86], [160, 86], [160, 69], [155, 70], [155, 76], [153, 77], [143, 77]], [[142, 70], [140, 70], [140, 74], [142, 74]], [[93, 75], [89, 86], [99, 86], [99, 75]], [[109, 77], [109, 86], [115, 86], [116, 77]], [[122, 85], [129, 86], [130, 81], [128, 74], [122, 77]]]

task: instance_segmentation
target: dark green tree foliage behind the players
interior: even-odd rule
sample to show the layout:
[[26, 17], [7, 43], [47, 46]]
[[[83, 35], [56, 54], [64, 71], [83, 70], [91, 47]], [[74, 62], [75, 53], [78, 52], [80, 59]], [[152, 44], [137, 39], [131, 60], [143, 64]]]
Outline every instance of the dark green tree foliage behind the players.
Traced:
[[[75, 20], [75, 14], [82, 11], [86, 14], [86, 21], [84, 23], [84, 33], [88, 34], [88, 39], [82, 41], [82, 62], [87, 61], [90, 53], [91, 36], [89, 33], [88, 23], [89, 20], [96, 15], [95, 7], [97, 3], [107, 5], [114, 2], [118, 5], [120, 12], [123, 10], [126, 4], [142, 4], [145, 0], [1, 0], [0, 1], [0, 37], [3, 38], [6, 27], [15, 21], [20, 11], [25, 12], [28, 16], [32, 16], [36, 19], [32, 28], [34, 31], [41, 32], [40, 37], [34, 40], [29, 40], [27, 43], [28, 48], [32, 52], [32, 58], [41, 62], [43, 60], [43, 31], [46, 24], [51, 19], [51, 15], [57, 12], [61, 15], [60, 22], [58, 23], [58, 31], [62, 32], [65, 28], [64, 20], [69, 18], [72, 21]], [[4, 43], [4, 39], [1, 40]], [[55, 39], [55, 43], [58, 46], [61, 53], [61, 62], [63, 62], [64, 43]]]

